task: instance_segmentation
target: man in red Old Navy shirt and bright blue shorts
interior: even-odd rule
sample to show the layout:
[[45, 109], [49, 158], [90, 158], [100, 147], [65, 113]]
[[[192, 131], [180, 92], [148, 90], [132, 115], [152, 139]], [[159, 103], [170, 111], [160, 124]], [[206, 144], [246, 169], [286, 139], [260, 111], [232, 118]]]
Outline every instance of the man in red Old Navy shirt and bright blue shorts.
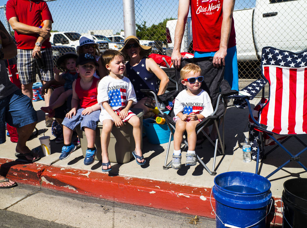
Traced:
[[191, 7], [194, 57], [213, 56], [215, 67], [225, 66], [224, 79], [238, 88], [238, 62], [232, 13], [235, 0], [179, 0], [172, 62], [180, 67], [180, 47]]

